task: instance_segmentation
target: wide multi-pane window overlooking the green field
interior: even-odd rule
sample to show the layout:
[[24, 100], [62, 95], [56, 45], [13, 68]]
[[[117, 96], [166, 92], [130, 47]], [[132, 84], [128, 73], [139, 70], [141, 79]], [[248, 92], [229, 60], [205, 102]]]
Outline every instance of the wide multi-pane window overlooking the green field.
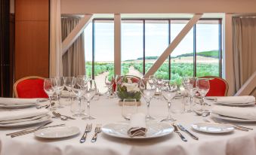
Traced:
[[[188, 21], [122, 20], [122, 74], [145, 74]], [[156, 71], [156, 77], [181, 84], [183, 76], [221, 76], [221, 37], [221, 19], [199, 20]], [[114, 71], [113, 19], [94, 19], [85, 29], [85, 60], [87, 74], [105, 91], [104, 77]]]

